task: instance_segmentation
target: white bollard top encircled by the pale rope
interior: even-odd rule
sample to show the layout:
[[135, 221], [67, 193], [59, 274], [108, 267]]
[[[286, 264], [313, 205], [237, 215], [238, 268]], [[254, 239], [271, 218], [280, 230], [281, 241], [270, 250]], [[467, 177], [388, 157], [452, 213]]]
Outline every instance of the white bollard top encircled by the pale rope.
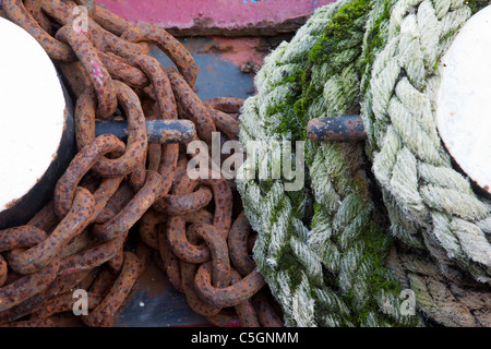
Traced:
[[462, 170], [491, 192], [491, 7], [475, 14], [442, 59], [436, 123]]

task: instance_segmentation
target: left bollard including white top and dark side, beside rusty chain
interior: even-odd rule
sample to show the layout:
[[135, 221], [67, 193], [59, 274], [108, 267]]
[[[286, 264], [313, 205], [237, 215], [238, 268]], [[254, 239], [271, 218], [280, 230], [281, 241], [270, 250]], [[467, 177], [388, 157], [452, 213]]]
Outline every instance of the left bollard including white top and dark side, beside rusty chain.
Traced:
[[74, 152], [72, 106], [50, 58], [0, 17], [0, 229], [25, 224]]

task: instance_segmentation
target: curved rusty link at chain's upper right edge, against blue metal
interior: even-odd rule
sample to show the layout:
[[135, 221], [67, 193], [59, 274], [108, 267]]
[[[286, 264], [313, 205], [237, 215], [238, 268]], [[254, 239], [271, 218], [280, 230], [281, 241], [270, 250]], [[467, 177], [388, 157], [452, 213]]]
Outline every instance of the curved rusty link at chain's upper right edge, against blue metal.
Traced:
[[194, 86], [197, 67], [192, 55], [164, 28], [152, 23], [137, 23], [131, 25], [121, 37], [132, 43], [152, 41], [157, 45], [176, 64], [189, 86]]

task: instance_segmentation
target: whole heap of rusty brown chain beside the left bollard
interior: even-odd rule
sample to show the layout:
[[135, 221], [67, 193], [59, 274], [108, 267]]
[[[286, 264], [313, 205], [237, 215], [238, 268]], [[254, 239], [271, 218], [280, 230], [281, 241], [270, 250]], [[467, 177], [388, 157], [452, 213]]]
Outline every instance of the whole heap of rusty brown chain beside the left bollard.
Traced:
[[[86, 29], [73, 25], [77, 5], [86, 9]], [[217, 130], [238, 140], [243, 100], [202, 101], [193, 57], [154, 24], [130, 24], [92, 0], [3, 0], [2, 7], [43, 46], [75, 96], [79, 153], [51, 202], [25, 226], [0, 231], [0, 326], [59, 325], [56, 315], [72, 310], [74, 289], [88, 292], [84, 324], [112, 326], [152, 261], [211, 324], [283, 326], [250, 256], [254, 236], [230, 183], [221, 176], [192, 180], [191, 155], [179, 144], [187, 141], [147, 137], [146, 120], [189, 119], [195, 140], [211, 145]], [[148, 44], [177, 70], [151, 57]], [[121, 119], [125, 143], [96, 136], [96, 120]]]

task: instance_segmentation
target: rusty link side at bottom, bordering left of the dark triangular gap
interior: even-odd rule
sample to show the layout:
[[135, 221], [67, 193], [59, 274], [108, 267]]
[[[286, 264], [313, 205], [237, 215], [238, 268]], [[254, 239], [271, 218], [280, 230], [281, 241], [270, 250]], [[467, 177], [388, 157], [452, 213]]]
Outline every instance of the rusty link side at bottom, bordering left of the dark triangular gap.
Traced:
[[104, 300], [83, 317], [88, 326], [110, 327], [115, 321], [116, 311], [122, 305], [140, 275], [140, 261], [135, 254], [124, 252], [124, 263], [121, 272]]

